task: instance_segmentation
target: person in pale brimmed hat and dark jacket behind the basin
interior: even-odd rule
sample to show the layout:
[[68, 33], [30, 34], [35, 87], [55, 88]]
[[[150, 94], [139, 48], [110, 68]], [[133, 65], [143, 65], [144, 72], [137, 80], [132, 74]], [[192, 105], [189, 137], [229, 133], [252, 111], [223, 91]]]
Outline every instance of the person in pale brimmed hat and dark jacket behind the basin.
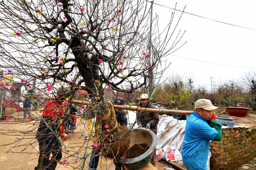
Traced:
[[[149, 108], [149, 109], [157, 109], [153, 104], [150, 103], [149, 97], [145, 93], [140, 95], [139, 107]], [[147, 129], [152, 130], [155, 134], [157, 134], [158, 122], [159, 122], [158, 113], [137, 111], [138, 128], [145, 127]], [[156, 166], [155, 161], [156, 161], [156, 149], [154, 150], [154, 153], [153, 153], [152, 159], [150, 160], [150, 163], [153, 166]]]

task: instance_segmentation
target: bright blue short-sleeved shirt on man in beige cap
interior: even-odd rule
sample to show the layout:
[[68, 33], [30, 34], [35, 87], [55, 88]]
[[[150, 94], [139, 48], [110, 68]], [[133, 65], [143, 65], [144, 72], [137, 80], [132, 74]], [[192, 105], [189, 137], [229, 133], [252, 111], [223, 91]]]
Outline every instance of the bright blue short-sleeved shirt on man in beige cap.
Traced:
[[207, 170], [210, 140], [213, 140], [217, 133], [196, 112], [188, 117], [181, 153], [186, 169]]

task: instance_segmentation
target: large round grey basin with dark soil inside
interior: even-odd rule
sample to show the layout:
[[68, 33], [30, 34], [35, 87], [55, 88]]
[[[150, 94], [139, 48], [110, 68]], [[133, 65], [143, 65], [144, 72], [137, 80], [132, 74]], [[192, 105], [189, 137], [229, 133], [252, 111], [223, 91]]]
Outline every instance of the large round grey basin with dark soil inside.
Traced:
[[137, 128], [132, 129], [132, 136], [130, 140], [130, 147], [132, 147], [134, 144], [141, 144], [141, 143], [147, 143], [150, 148], [143, 153], [142, 155], [131, 158], [131, 159], [119, 159], [119, 162], [124, 164], [126, 167], [129, 167], [131, 169], [139, 169], [145, 167], [151, 160], [153, 152], [156, 147], [156, 134], [148, 130], [146, 128]]

